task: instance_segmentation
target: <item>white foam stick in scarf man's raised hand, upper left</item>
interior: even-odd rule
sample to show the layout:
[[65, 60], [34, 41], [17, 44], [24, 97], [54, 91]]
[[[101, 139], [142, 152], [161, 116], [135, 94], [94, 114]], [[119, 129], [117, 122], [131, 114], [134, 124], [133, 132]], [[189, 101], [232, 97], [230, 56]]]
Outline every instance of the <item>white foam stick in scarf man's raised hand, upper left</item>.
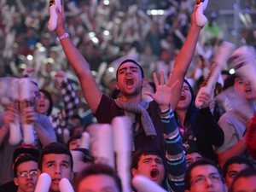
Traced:
[[49, 0], [49, 21], [48, 30], [54, 31], [57, 27], [57, 13], [56, 8], [61, 12], [61, 0]]

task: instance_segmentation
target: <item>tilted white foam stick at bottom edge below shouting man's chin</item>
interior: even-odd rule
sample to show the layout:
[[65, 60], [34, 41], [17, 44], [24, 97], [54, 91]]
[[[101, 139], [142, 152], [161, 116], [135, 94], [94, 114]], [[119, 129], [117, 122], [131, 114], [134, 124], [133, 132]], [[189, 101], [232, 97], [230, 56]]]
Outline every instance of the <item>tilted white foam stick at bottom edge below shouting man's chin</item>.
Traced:
[[160, 185], [151, 181], [148, 177], [144, 177], [142, 175], [137, 175], [132, 178], [132, 185], [139, 192], [166, 192], [165, 189], [162, 189]]

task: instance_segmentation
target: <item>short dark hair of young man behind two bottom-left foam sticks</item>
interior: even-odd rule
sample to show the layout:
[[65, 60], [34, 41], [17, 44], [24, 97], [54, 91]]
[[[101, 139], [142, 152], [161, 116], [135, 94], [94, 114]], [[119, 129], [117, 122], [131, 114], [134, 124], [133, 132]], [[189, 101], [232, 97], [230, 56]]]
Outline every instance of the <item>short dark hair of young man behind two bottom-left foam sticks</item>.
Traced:
[[45, 154], [67, 154], [70, 157], [70, 167], [73, 170], [73, 157], [70, 150], [62, 143], [49, 143], [42, 148], [38, 158], [38, 169], [42, 171], [42, 165]]

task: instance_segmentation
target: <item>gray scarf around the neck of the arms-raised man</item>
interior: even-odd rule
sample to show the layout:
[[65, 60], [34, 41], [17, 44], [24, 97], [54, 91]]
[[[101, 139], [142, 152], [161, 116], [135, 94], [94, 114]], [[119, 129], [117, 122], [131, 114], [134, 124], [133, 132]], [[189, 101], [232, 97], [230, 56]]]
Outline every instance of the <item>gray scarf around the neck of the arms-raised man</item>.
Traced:
[[143, 130], [146, 136], [155, 137], [156, 132], [154, 129], [153, 122], [148, 115], [147, 108], [149, 103], [142, 101], [140, 103], [137, 102], [122, 102], [120, 99], [114, 100], [119, 108], [123, 108], [125, 110], [125, 115], [132, 119], [132, 122], [135, 119], [135, 113], [141, 114], [141, 122], [143, 125]]

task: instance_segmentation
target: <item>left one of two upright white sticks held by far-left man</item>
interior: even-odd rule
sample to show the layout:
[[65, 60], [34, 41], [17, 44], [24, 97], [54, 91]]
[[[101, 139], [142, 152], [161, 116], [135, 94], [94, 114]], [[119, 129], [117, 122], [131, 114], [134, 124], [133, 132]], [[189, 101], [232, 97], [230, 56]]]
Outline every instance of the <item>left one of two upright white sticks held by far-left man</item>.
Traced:
[[[11, 84], [11, 93], [12, 93], [12, 105], [15, 108], [15, 113], [20, 111], [20, 93], [19, 93], [19, 79], [13, 79]], [[15, 145], [20, 143], [22, 139], [20, 131], [20, 122], [18, 117], [15, 119], [15, 122], [9, 124], [9, 144]]]

